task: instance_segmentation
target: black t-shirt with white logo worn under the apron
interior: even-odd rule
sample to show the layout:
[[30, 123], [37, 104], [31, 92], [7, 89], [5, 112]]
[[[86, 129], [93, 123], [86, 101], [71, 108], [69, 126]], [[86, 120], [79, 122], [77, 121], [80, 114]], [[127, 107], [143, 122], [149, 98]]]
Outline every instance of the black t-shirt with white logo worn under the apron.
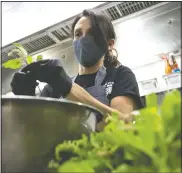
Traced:
[[[117, 68], [107, 68], [107, 75], [102, 83], [105, 87], [107, 98], [111, 101], [117, 96], [129, 96], [135, 100], [137, 109], [143, 107], [138, 84], [134, 73], [126, 66], [120, 65]], [[79, 75], [75, 83], [83, 88], [94, 86], [97, 73]]]

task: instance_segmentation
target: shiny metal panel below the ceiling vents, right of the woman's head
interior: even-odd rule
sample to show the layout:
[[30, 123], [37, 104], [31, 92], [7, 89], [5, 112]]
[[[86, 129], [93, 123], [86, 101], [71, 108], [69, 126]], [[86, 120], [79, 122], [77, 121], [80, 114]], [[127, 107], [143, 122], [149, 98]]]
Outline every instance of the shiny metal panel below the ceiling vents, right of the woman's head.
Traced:
[[181, 49], [181, 9], [164, 7], [114, 22], [121, 63], [137, 68]]

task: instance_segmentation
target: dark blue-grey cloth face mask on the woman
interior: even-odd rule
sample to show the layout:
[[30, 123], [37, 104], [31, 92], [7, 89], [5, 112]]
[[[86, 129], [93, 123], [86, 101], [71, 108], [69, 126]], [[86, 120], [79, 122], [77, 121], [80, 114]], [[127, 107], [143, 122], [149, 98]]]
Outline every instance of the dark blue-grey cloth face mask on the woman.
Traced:
[[95, 43], [93, 36], [81, 37], [73, 44], [76, 58], [84, 67], [94, 66], [104, 56], [104, 52]]

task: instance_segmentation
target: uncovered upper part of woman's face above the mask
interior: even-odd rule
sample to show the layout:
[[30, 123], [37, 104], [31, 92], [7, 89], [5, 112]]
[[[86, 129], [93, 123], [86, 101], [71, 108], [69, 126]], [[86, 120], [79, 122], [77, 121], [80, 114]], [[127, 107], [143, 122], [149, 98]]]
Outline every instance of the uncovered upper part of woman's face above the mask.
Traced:
[[74, 40], [79, 39], [82, 36], [85, 36], [91, 31], [91, 22], [89, 17], [81, 17], [75, 25], [74, 28]]

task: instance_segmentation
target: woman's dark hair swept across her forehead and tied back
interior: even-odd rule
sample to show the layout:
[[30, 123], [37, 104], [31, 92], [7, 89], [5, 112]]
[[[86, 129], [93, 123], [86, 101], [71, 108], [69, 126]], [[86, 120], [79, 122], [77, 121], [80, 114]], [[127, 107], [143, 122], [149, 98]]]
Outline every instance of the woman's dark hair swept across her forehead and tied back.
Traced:
[[110, 51], [108, 50], [108, 41], [111, 39], [115, 40], [116, 34], [110, 19], [108, 19], [106, 16], [96, 14], [91, 10], [84, 10], [78, 17], [76, 17], [72, 24], [72, 37], [74, 37], [74, 28], [76, 23], [83, 16], [90, 18], [91, 33], [97, 45], [105, 52], [104, 66], [107, 68], [120, 65], [120, 62], [117, 60], [117, 56], [111, 55]]

